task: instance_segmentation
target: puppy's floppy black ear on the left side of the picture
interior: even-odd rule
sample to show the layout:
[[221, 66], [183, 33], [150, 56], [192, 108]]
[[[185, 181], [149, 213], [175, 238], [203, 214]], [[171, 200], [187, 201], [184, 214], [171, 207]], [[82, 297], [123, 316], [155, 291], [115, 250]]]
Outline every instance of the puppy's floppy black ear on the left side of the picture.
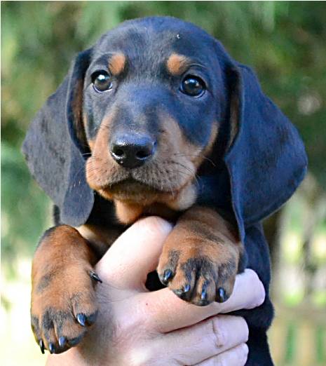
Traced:
[[91, 52], [76, 57], [61, 86], [32, 121], [22, 145], [32, 175], [60, 208], [60, 221], [72, 226], [86, 222], [94, 202], [86, 183], [83, 152], [88, 149], [81, 109]]

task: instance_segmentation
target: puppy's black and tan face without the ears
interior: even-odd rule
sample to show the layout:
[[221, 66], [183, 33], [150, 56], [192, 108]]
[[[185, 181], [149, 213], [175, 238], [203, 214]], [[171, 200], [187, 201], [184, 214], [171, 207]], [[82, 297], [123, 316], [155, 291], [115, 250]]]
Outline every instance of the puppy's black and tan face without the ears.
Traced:
[[117, 208], [137, 216], [154, 203], [184, 210], [196, 200], [196, 171], [217, 137], [223, 102], [208, 43], [185, 26], [127, 23], [95, 46], [83, 86], [86, 177]]

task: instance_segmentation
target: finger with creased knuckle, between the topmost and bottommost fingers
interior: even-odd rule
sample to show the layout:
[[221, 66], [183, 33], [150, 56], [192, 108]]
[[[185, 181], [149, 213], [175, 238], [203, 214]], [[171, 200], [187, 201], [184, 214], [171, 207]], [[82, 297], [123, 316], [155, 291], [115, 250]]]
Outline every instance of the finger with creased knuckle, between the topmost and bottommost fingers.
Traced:
[[194, 365], [245, 343], [248, 334], [243, 318], [215, 316], [192, 327], [165, 334], [161, 338], [161, 349], [170, 353], [170, 358], [177, 360], [179, 365]]

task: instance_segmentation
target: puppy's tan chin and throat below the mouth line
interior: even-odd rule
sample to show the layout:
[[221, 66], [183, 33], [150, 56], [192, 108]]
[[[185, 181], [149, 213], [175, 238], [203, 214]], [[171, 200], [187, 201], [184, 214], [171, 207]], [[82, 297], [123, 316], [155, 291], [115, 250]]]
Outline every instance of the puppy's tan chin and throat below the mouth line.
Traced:
[[123, 224], [132, 224], [142, 215], [159, 215], [170, 219], [175, 212], [191, 207], [197, 196], [192, 183], [179, 191], [165, 192], [140, 182], [125, 181], [97, 191], [114, 202], [116, 217]]

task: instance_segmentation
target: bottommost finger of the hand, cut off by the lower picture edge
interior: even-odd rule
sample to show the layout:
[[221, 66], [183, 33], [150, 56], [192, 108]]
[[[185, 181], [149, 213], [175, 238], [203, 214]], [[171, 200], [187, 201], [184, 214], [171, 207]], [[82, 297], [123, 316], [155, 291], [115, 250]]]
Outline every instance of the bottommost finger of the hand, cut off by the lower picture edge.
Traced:
[[216, 366], [216, 365], [228, 365], [228, 366], [244, 366], [247, 362], [248, 346], [247, 344], [240, 344], [234, 348], [216, 355], [212, 358], [208, 358], [203, 362], [197, 363], [196, 366]]

